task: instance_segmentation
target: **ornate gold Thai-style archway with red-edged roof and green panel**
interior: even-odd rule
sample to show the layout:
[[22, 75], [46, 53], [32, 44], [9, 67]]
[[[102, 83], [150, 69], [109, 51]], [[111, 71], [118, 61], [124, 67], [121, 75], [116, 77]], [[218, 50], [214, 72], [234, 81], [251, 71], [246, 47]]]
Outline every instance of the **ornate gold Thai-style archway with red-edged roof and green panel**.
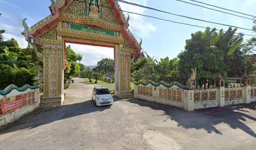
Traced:
[[115, 96], [129, 98], [131, 60], [141, 51], [129, 31], [115, 0], [51, 0], [51, 15], [28, 27], [23, 20], [23, 35], [35, 44], [44, 64], [44, 94], [41, 106], [58, 106], [63, 102], [65, 43], [114, 47]]

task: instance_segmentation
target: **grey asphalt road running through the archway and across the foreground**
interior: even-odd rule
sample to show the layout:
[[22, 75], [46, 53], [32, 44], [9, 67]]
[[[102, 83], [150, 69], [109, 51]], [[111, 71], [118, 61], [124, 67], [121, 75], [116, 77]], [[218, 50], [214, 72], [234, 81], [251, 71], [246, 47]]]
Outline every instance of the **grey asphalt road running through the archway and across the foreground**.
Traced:
[[95, 107], [93, 86], [75, 78], [63, 106], [0, 131], [0, 149], [256, 149], [255, 104], [188, 113], [115, 98]]

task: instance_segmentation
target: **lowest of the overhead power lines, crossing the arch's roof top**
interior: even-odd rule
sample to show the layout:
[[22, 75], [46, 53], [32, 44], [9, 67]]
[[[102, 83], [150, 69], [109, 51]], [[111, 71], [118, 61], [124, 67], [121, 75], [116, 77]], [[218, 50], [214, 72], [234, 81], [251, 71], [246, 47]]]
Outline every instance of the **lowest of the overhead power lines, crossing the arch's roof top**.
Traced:
[[[78, 1], [78, 2], [84, 2], [84, 3], [89, 3], [89, 2], [85, 2], [85, 1], [79, 1], [79, 0], [75, 0], [75, 1]], [[94, 4], [95, 5], [95, 4]], [[97, 5], [96, 5], [97, 6]], [[144, 16], [144, 17], [151, 17], [153, 19], [158, 19], [158, 20], [161, 20], [161, 21], [167, 21], [167, 22], [173, 22], [173, 23], [176, 23], [176, 24], [183, 24], [183, 25], [187, 25], [187, 26], [193, 26], [193, 27], [201, 27], [203, 29], [206, 29], [207, 27], [203, 27], [203, 26], [198, 26], [198, 25], [195, 25], [195, 24], [188, 24], [188, 23], [184, 23], [184, 22], [178, 22], [178, 21], [171, 21], [171, 20], [168, 20], [168, 19], [163, 19], [163, 18], [160, 18], [160, 17], [154, 17], [154, 16], [149, 16], [149, 15], [146, 15], [146, 14], [139, 14], [139, 13], [136, 13], [136, 12], [131, 12], [131, 11], [124, 11], [122, 9], [115, 9], [115, 8], [110, 8], [110, 7], [107, 7], [107, 6], [102, 6], [102, 5], [99, 5], [100, 7], [103, 7], [103, 8], [109, 8], [109, 9], [112, 9], [112, 10], [117, 10], [117, 11], [122, 11], [122, 12], [127, 12], [127, 13], [130, 13], [130, 14], [136, 14], [136, 15], [139, 15], [139, 16]], [[216, 29], [217, 31], [220, 31], [220, 29]], [[226, 31], [225, 31], [226, 32]], [[241, 34], [241, 33], [235, 33], [235, 34]], [[243, 33], [242, 33], [243, 34]], [[253, 36], [253, 37], [256, 37], [254, 35], [251, 35], [251, 34], [243, 34], [245, 36]]]

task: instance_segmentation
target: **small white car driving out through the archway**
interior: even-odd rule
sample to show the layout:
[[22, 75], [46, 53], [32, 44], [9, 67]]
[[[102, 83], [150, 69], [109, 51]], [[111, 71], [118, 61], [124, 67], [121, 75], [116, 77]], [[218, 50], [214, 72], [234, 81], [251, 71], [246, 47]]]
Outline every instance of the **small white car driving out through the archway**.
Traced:
[[106, 87], [93, 88], [92, 101], [96, 106], [112, 105], [114, 103], [114, 99]]

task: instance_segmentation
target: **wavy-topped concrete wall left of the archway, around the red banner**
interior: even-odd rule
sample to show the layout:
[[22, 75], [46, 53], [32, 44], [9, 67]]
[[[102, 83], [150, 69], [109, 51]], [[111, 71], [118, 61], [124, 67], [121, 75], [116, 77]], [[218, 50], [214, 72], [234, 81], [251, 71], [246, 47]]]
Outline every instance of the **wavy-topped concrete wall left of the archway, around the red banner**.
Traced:
[[[20, 96], [24, 96], [26, 100], [26, 105], [11, 111], [10, 113], [0, 114], [0, 126], [3, 126], [8, 123], [12, 123], [17, 119], [21, 118], [25, 114], [35, 111], [35, 109], [40, 108], [40, 91], [39, 89], [26, 89], [25, 91], [18, 91], [13, 89], [9, 94], [1, 95], [0, 94], [0, 104], [5, 101], [15, 101], [15, 99]], [[1, 109], [1, 108], [0, 108]]]

